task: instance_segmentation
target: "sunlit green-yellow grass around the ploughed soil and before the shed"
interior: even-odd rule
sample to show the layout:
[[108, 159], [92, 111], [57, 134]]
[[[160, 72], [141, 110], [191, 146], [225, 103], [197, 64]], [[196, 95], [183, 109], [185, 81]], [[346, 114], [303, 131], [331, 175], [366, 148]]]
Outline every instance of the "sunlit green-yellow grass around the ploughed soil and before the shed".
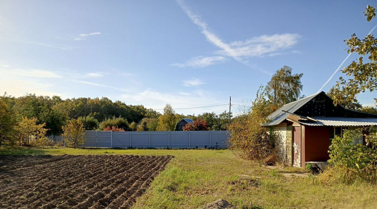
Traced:
[[[0, 154], [175, 156], [133, 208], [198, 208], [218, 198], [238, 208], [250, 206], [250, 201], [255, 208], [375, 208], [377, 205], [377, 188], [373, 186], [362, 183], [322, 186], [315, 183], [314, 176], [285, 178], [280, 173], [283, 171], [239, 159], [230, 150], [2, 148]], [[261, 178], [243, 180], [239, 174]]]

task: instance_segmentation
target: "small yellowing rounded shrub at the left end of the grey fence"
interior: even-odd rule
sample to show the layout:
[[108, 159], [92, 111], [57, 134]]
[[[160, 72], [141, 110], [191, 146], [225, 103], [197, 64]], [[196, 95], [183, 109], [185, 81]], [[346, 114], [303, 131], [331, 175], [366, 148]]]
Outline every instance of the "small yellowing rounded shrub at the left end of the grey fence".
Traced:
[[71, 119], [67, 125], [63, 126], [64, 141], [67, 146], [77, 148], [84, 144], [85, 129], [80, 120]]

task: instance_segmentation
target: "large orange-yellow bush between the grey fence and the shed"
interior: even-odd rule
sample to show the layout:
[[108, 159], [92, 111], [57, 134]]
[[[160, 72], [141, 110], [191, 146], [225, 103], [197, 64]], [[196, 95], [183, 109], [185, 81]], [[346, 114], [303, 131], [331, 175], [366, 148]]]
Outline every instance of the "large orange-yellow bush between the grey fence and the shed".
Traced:
[[252, 102], [251, 112], [243, 122], [230, 125], [230, 149], [245, 159], [262, 159], [273, 152], [275, 136], [262, 126], [268, 122], [267, 116], [276, 107], [265, 97], [261, 86]]

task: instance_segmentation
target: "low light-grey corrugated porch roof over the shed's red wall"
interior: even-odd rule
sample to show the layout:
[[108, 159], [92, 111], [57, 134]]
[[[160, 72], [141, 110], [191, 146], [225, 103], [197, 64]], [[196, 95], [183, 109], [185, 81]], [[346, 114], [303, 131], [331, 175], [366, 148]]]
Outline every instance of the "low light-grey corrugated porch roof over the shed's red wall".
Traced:
[[307, 122], [299, 120], [302, 125], [310, 126], [368, 126], [377, 125], [377, 118], [360, 117], [312, 117], [317, 122]]

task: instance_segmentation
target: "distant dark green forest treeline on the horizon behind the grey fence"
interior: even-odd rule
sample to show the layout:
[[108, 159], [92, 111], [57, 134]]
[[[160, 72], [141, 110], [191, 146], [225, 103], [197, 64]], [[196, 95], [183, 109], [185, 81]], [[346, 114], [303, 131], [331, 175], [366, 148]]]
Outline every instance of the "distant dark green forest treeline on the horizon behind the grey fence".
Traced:
[[[60, 96], [27, 94], [16, 98], [5, 93], [0, 96], [0, 99], [11, 110], [15, 121], [21, 121], [23, 117], [37, 118], [38, 124], [46, 124], [48, 135], [60, 135], [62, 126], [66, 125], [70, 119], [79, 119], [84, 122], [85, 98], [82, 97], [61, 99]], [[174, 121], [167, 121], [167, 123], [175, 124], [184, 117], [193, 120], [201, 117], [211, 124], [210, 130], [226, 130], [229, 113], [226, 111], [221, 114], [204, 112], [198, 116], [175, 112], [174, 114], [175, 117], [171, 117]], [[86, 130], [103, 130], [107, 126], [114, 125], [125, 131], [156, 131], [161, 129], [157, 128], [158, 123], [159, 127], [163, 127], [161, 120], [164, 118], [158, 111], [143, 105], [130, 105], [119, 100], [112, 101], [107, 97], [87, 98], [86, 116]]]

